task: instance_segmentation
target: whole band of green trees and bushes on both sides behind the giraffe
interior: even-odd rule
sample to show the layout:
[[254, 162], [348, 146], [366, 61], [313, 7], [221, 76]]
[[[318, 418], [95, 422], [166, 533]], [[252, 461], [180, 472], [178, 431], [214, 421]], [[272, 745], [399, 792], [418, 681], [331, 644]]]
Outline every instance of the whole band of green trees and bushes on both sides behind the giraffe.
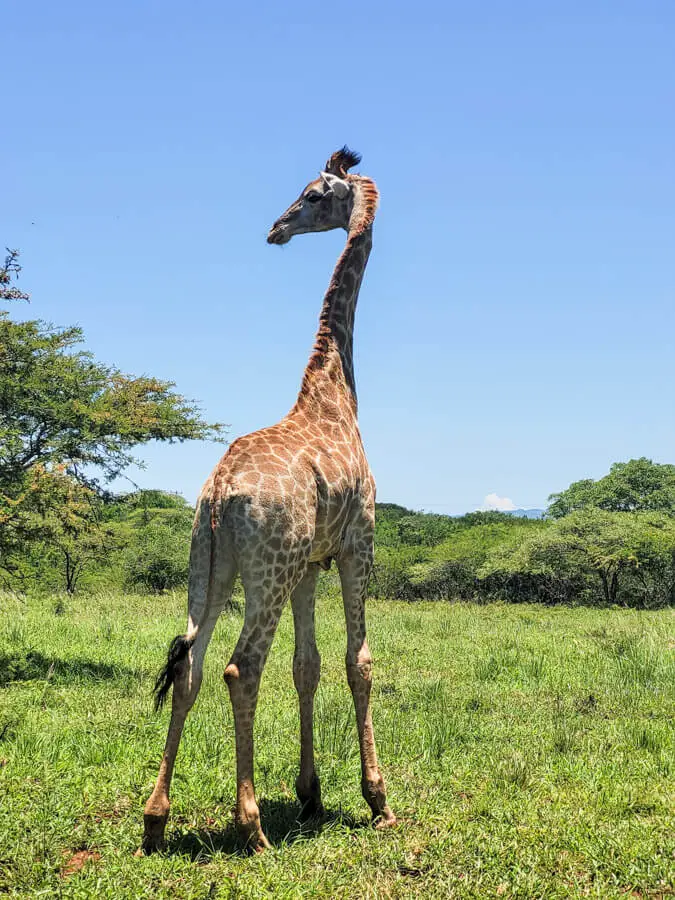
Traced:
[[[16, 251], [0, 301], [21, 302]], [[220, 439], [170, 382], [83, 349], [79, 328], [0, 310], [0, 586], [187, 584], [192, 507], [163, 491], [111, 493], [150, 440]], [[450, 517], [380, 504], [371, 594], [656, 607], [675, 601], [675, 466], [616, 463], [552, 495], [544, 520]], [[323, 576], [326, 585], [334, 574]]]

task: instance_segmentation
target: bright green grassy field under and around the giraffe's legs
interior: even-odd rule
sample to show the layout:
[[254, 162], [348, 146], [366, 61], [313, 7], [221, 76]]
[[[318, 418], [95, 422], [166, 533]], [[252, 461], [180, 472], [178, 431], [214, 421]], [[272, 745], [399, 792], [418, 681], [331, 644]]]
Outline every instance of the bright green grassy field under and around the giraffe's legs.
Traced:
[[315, 732], [327, 819], [301, 828], [284, 614], [257, 788], [274, 849], [231, 826], [219, 624], [173, 787], [169, 849], [136, 859], [168, 713], [153, 676], [184, 597], [1, 599], [0, 894], [663, 897], [675, 882], [675, 612], [373, 602], [374, 719], [398, 828], [368, 826], [340, 601], [320, 599]]

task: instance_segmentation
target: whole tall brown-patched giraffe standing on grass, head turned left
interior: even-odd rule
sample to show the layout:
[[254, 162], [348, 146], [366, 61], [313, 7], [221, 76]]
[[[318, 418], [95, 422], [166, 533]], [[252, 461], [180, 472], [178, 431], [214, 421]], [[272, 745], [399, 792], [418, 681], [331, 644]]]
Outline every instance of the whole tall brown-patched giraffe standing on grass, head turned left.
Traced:
[[304, 818], [323, 812], [314, 764], [313, 711], [321, 659], [315, 641], [319, 568], [334, 559], [347, 626], [346, 668], [356, 711], [361, 790], [376, 827], [396, 819], [387, 805], [370, 707], [372, 659], [365, 597], [373, 560], [375, 482], [357, 424], [353, 329], [372, 246], [375, 183], [349, 169], [361, 157], [346, 146], [274, 223], [267, 241], [344, 228], [345, 248], [326, 292], [300, 393], [276, 425], [240, 437], [200, 494], [190, 549], [188, 626], [174, 638], [155, 685], [159, 707], [173, 687], [171, 720], [155, 788], [145, 806], [142, 852], [165, 846], [169, 787], [183, 725], [202, 681], [204, 655], [239, 572], [245, 594], [242, 631], [224, 679], [234, 714], [237, 756], [235, 823], [246, 844], [269, 847], [253, 783], [253, 719], [263, 667], [285, 601], [295, 630], [293, 680], [300, 708], [296, 793]]

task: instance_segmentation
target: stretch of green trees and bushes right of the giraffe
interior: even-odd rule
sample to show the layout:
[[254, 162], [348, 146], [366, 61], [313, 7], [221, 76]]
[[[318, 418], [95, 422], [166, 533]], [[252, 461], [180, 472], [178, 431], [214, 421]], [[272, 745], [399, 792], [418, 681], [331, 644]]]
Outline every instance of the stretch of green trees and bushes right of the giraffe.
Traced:
[[675, 603], [675, 466], [616, 463], [550, 498], [543, 520], [378, 511], [372, 592], [400, 600]]

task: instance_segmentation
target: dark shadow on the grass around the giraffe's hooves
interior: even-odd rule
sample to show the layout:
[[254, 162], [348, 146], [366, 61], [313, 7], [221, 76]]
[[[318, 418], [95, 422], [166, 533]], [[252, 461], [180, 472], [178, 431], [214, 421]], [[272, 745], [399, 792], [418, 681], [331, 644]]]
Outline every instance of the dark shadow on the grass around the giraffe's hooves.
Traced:
[[[295, 800], [260, 801], [263, 830], [273, 847], [316, 837], [332, 825], [342, 825], [353, 831], [368, 827], [366, 821], [355, 819], [342, 810], [326, 810], [320, 819], [310, 819], [307, 822], [301, 822], [299, 814], [300, 805]], [[166, 852], [170, 855], [183, 854], [193, 861], [204, 862], [218, 853], [244, 856], [250, 851], [242, 844], [234, 822], [230, 822], [226, 828], [199, 828], [174, 832], [173, 836], [169, 837]]]

